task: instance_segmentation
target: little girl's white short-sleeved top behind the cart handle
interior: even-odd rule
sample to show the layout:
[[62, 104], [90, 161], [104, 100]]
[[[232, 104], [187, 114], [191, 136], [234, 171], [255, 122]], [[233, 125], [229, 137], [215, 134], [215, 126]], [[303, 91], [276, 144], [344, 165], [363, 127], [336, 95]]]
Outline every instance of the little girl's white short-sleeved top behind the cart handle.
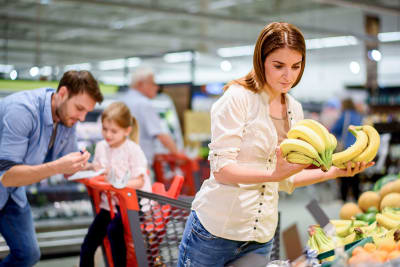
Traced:
[[[151, 181], [147, 175], [146, 157], [140, 146], [132, 140], [127, 139], [122, 145], [116, 148], [110, 147], [105, 140], [98, 142], [96, 144], [93, 163], [99, 164], [109, 170], [113, 168], [114, 175], [117, 178], [122, 178], [128, 170], [131, 173], [131, 179], [135, 179], [143, 174], [144, 185], [139, 189], [151, 192]], [[115, 206], [118, 205], [118, 198], [113, 196], [111, 202], [114, 212], [116, 212]], [[100, 208], [110, 210], [106, 194], [101, 194]]]

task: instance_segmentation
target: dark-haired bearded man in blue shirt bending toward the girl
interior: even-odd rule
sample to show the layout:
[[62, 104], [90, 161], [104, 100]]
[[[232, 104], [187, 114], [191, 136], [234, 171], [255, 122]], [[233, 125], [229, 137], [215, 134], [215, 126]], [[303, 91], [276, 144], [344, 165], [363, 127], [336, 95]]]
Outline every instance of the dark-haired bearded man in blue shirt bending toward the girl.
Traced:
[[40, 259], [25, 185], [85, 168], [75, 123], [103, 101], [88, 71], [68, 71], [57, 91], [41, 88], [0, 102], [0, 233], [10, 254], [0, 266], [32, 266]]

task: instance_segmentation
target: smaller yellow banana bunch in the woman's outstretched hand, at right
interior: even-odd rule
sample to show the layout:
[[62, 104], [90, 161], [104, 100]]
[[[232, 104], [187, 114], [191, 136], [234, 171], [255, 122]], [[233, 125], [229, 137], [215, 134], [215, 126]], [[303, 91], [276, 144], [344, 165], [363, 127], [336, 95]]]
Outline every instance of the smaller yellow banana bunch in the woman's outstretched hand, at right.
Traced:
[[353, 166], [356, 162], [370, 162], [375, 158], [380, 145], [379, 133], [370, 125], [350, 125], [348, 130], [356, 137], [356, 141], [346, 150], [332, 155], [333, 165], [341, 169], [347, 168], [349, 161]]

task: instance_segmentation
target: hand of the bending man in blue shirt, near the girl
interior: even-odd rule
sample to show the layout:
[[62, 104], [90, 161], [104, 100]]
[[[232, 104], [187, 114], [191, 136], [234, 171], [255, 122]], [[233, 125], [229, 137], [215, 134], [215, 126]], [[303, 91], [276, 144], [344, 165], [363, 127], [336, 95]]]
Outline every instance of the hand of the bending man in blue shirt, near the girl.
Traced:
[[86, 163], [90, 158], [90, 153], [87, 151], [72, 152], [62, 158], [55, 160], [54, 167], [58, 173], [73, 174], [86, 168]]

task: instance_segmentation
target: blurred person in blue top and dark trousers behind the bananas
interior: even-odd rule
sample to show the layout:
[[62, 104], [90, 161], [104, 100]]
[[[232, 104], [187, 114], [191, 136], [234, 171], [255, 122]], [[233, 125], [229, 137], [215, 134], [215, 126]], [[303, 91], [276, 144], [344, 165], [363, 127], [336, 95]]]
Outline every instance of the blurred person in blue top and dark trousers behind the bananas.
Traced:
[[[337, 151], [342, 151], [356, 141], [356, 138], [348, 131], [349, 125], [361, 125], [363, 121], [362, 114], [357, 111], [354, 102], [351, 98], [342, 100], [341, 103], [342, 113], [337, 121], [333, 124], [331, 132], [338, 140]], [[349, 189], [353, 193], [355, 200], [360, 195], [360, 179], [341, 179], [340, 183], [340, 197], [343, 201], [347, 201]]]

